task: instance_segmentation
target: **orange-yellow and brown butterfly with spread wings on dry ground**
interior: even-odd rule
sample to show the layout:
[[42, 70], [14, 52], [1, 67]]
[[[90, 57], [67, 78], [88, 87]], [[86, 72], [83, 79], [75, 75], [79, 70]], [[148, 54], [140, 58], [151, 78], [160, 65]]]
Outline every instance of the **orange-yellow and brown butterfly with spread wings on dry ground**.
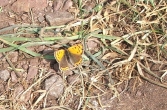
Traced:
[[54, 52], [54, 57], [59, 63], [59, 69], [65, 71], [82, 63], [82, 53], [82, 44], [75, 44], [67, 49]]

